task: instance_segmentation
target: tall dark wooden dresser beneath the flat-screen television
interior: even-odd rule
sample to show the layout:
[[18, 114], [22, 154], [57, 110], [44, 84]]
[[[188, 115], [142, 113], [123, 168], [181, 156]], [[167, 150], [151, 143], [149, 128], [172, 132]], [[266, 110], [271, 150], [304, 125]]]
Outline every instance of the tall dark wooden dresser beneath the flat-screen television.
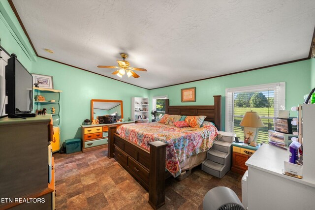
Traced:
[[55, 209], [51, 118], [0, 119], [0, 209]]

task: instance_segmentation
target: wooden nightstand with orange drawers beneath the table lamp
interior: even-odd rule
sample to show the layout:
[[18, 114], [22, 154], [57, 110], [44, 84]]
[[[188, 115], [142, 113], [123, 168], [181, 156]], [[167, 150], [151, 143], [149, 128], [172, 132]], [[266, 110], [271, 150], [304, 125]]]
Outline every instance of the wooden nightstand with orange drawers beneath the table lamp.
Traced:
[[252, 154], [260, 147], [244, 146], [243, 143], [232, 143], [232, 168], [231, 171], [243, 175], [247, 171], [245, 162], [252, 156]]

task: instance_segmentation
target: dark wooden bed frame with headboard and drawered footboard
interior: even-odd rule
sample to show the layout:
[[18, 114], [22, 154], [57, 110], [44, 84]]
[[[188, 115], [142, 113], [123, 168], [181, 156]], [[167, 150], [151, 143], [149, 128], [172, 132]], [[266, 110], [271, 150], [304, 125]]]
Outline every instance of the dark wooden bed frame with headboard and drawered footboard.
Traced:
[[[169, 106], [166, 99], [165, 114], [186, 116], [207, 116], [206, 121], [212, 121], [221, 129], [221, 95], [214, 95], [214, 105], [211, 106]], [[154, 208], [165, 204], [165, 173], [166, 143], [156, 141], [149, 143], [150, 151], [126, 140], [116, 133], [117, 125], [108, 126], [108, 158], [115, 159], [144, 188], [149, 190], [149, 204]]]

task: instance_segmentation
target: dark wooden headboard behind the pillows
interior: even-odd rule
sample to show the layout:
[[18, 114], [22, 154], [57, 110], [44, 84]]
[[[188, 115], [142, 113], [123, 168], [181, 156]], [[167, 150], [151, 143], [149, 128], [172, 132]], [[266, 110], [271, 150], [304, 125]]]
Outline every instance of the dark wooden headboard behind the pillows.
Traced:
[[206, 121], [214, 122], [221, 130], [221, 95], [214, 95], [215, 104], [209, 106], [170, 106], [169, 99], [165, 100], [165, 114], [186, 116], [207, 116]]

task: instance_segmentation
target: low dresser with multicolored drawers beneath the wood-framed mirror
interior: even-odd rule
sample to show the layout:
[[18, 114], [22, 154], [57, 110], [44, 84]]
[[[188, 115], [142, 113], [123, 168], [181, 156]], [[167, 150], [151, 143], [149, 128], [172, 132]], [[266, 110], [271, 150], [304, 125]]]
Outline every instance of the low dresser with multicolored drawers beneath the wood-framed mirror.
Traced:
[[82, 130], [82, 152], [98, 150], [107, 147], [108, 141], [108, 126], [134, 123], [128, 122], [115, 122], [112, 124], [95, 124], [95, 125], [81, 125]]

